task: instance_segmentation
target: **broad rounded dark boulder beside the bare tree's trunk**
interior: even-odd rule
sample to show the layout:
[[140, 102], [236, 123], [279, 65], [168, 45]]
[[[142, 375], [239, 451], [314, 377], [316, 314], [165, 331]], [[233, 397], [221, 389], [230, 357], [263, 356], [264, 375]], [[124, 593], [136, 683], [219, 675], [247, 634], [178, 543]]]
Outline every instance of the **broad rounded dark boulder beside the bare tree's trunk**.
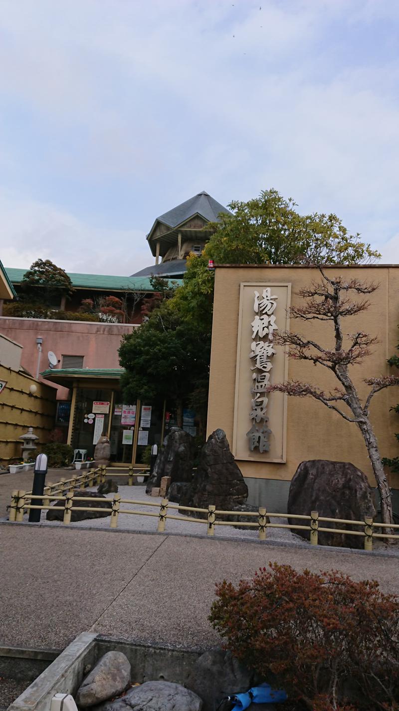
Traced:
[[[376, 515], [373, 492], [366, 476], [349, 461], [328, 461], [312, 459], [302, 461], [290, 484], [288, 514], [310, 515], [318, 511], [326, 518], [346, 518], [364, 520], [365, 516]], [[295, 525], [298, 519], [290, 519]], [[320, 528], [341, 528], [361, 530], [359, 526], [345, 523], [319, 523]], [[310, 540], [310, 531], [294, 530], [302, 538]], [[320, 545], [337, 545], [363, 548], [364, 538], [344, 533], [323, 533], [318, 535]]]

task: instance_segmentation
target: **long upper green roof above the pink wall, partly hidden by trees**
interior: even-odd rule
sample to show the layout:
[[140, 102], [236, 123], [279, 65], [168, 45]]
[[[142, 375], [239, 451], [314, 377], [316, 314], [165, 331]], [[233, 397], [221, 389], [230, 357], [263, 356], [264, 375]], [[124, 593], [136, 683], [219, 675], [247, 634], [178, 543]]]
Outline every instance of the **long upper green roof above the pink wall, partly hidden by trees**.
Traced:
[[[155, 267], [155, 264], [154, 264]], [[28, 269], [4, 269], [9, 281], [13, 284], [21, 284], [23, 274]], [[75, 274], [67, 272], [75, 289], [104, 289], [109, 292], [153, 292], [150, 279], [148, 277], [111, 277], [106, 274]], [[168, 279], [175, 282], [177, 286], [182, 284], [182, 279]]]

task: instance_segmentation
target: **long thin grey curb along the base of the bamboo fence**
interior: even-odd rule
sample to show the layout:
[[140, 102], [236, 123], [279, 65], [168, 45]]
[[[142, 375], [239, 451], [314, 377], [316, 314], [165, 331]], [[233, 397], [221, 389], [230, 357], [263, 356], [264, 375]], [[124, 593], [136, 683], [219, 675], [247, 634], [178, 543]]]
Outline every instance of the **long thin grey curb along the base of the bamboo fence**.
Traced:
[[253, 543], [255, 545], [263, 545], [263, 546], [271, 546], [271, 547], [282, 547], [282, 548], [290, 548], [290, 549], [302, 549], [302, 550], [308, 550], [311, 553], [320, 551], [320, 550], [325, 550], [327, 552], [335, 552], [335, 553], [353, 553], [354, 555], [368, 555], [368, 556], [373, 556], [373, 557], [388, 557], [388, 558], [399, 558], [399, 549], [395, 551], [388, 551], [388, 550], [361, 550], [358, 548], [344, 548], [344, 547], [339, 547], [339, 546], [334, 546], [334, 545], [315, 545], [312, 546], [310, 543], [293, 543], [293, 542], [288, 542], [288, 541], [280, 541], [280, 540], [257, 540], [256, 538], [229, 538], [228, 536], [223, 536], [223, 535], [216, 535], [213, 538], [210, 538], [207, 535], [202, 535], [200, 533], [175, 533], [175, 532], [170, 532], [165, 531], [164, 533], [158, 533], [158, 531], [143, 531], [143, 530], [132, 530], [128, 528], [103, 528], [100, 526], [80, 526], [79, 524], [73, 523], [71, 525], [65, 525], [64, 527], [60, 526], [59, 523], [51, 523], [48, 521], [47, 523], [29, 523], [28, 521], [9, 521], [5, 518], [0, 518], [0, 525], [10, 525], [10, 526], [29, 526], [33, 528], [58, 528], [62, 529], [65, 531], [68, 530], [84, 530], [84, 531], [103, 531], [105, 533], [115, 533], [115, 534], [127, 534], [127, 535], [158, 535], [158, 536], [163, 536], [164, 538], [202, 538], [204, 540], [215, 540], [215, 541], [226, 541], [230, 543], [241, 543], [244, 545], [248, 545], [248, 543]]

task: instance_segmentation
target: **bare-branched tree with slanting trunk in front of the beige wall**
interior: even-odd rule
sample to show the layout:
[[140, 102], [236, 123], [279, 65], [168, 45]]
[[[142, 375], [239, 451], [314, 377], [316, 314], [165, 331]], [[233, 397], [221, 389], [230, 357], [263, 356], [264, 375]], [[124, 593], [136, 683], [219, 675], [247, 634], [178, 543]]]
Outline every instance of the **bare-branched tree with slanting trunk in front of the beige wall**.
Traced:
[[[346, 334], [342, 330], [341, 320], [345, 316], [356, 316], [368, 309], [369, 301], [359, 299], [353, 301], [350, 293], [372, 294], [378, 289], [378, 284], [361, 282], [359, 279], [345, 280], [344, 277], [330, 279], [319, 267], [322, 274], [320, 282], [313, 282], [308, 289], [300, 289], [299, 295], [307, 299], [305, 306], [293, 306], [290, 309], [292, 319], [302, 321], [331, 321], [334, 326], [334, 349], [329, 351], [315, 341], [300, 336], [298, 333], [279, 332], [275, 341], [288, 346], [289, 355], [297, 360], [308, 360], [315, 365], [328, 368], [339, 381], [339, 387], [331, 392], [323, 392], [310, 383], [292, 381], [270, 385], [269, 392], [286, 392], [294, 397], [310, 395], [319, 400], [329, 410], [338, 412], [347, 422], [354, 422], [364, 437], [368, 456], [376, 477], [378, 491], [381, 496], [381, 512], [383, 523], [393, 523], [390, 488], [383, 469], [378, 442], [369, 417], [369, 407], [373, 395], [384, 387], [399, 385], [399, 378], [394, 375], [383, 375], [380, 378], [366, 378], [365, 383], [371, 385], [366, 400], [361, 402], [354, 382], [349, 375], [349, 366], [359, 365], [366, 355], [370, 355], [371, 346], [377, 339], [367, 333]], [[341, 410], [339, 404], [347, 407]]]

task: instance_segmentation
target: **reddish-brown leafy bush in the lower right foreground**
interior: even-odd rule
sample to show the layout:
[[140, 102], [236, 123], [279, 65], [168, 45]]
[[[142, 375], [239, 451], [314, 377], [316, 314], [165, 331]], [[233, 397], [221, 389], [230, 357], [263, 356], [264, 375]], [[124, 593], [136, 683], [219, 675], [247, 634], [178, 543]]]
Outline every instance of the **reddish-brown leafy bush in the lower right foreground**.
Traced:
[[399, 709], [399, 599], [375, 580], [270, 563], [217, 584], [224, 646], [312, 711]]

